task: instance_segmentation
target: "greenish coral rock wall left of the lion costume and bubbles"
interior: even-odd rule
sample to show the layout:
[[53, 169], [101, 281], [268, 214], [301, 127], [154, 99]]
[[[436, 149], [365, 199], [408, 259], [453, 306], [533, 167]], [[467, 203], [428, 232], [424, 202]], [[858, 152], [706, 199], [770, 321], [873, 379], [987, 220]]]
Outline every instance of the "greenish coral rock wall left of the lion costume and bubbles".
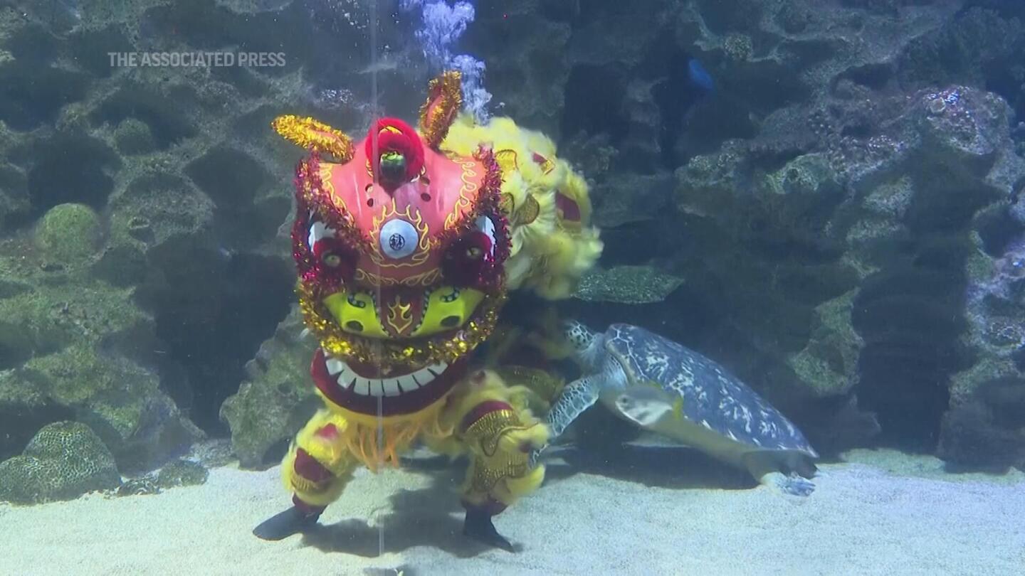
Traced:
[[[301, 151], [270, 122], [365, 129], [359, 4], [0, 3], [0, 460], [64, 419], [126, 472], [228, 431], [220, 404], [293, 300], [282, 227]], [[382, 56], [407, 57], [394, 46]], [[200, 51], [284, 66], [111, 56]], [[414, 110], [422, 74], [381, 72], [382, 102]], [[397, 89], [414, 77], [415, 96]]]

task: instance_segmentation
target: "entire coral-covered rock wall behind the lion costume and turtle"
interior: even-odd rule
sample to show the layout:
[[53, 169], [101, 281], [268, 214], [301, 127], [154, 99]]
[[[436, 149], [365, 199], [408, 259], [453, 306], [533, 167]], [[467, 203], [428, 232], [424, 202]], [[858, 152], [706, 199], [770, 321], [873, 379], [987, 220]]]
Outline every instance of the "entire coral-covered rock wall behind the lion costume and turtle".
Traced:
[[[66, 419], [121, 469], [225, 425], [246, 465], [280, 455], [311, 344], [283, 234], [299, 151], [268, 126], [360, 132], [372, 78], [414, 119], [416, 23], [378, 14], [371, 67], [350, 0], [0, 4], [0, 458]], [[996, 0], [517, 0], [480, 3], [460, 49], [492, 112], [591, 182], [607, 248], [568, 312], [707, 354], [823, 451], [1023, 466], [1023, 20]], [[132, 50], [287, 64], [111, 66]]]

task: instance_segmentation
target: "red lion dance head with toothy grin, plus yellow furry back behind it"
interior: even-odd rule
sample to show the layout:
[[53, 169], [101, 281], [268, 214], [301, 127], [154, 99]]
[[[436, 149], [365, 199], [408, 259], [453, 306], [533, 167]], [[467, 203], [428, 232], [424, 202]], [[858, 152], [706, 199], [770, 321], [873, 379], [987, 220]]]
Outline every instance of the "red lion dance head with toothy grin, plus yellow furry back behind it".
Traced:
[[311, 153], [295, 171], [297, 291], [321, 343], [317, 386], [345, 410], [401, 415], [443, 398], [507, 290], [568, 295], [601, 251], [586, 187], [550, 141], [507, 119], [473, 125], [460, 106], [446, 73], [419, 131], [381, 118], [354, 143], [312, 118], [274, 121]]

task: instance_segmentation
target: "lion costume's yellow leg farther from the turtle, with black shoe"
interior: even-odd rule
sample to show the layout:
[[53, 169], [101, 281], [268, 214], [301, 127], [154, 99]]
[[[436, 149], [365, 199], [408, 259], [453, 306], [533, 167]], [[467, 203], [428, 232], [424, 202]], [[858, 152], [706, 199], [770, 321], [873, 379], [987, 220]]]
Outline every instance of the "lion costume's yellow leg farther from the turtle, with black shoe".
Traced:
[[339, 440], [346, 425], [341, 416], [328, 410], [306, 422], [281, 465], [282, 481], [292, 492], [292, 507], [264, 521], [253, 534], [280, 540], [302, 532], [341, 496], [357, 462]]

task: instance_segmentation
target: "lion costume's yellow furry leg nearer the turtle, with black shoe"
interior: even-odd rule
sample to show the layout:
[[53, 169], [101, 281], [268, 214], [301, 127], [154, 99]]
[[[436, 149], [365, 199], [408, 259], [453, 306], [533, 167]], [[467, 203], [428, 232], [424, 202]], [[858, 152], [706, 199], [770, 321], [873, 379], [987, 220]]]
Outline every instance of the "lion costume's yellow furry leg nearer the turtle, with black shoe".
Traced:
[[448, 416], [458, 422], [456, 438], [470, 460], [463, 533], [512, 551], [491, 519], [541, 485], [544, 467], [531, 467], [528, 455], [547, 442], [548, 430], [523, 403], [525, 390], [506, 386], [494, 372], [478, 372], [459, 386]]

